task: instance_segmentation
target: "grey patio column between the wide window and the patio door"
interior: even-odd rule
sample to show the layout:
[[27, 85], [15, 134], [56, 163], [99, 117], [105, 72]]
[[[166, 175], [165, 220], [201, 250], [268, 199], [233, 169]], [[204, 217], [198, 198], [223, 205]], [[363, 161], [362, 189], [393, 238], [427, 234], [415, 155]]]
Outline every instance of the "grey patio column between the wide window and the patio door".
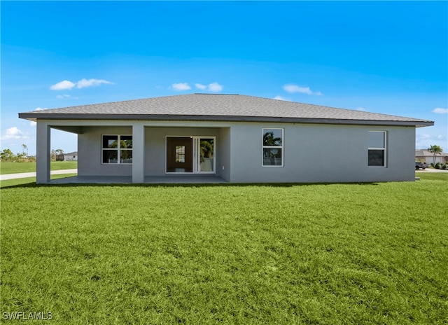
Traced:
[[142, 123], [132, 125], [132, 183], [144, 183], [145, 127]]

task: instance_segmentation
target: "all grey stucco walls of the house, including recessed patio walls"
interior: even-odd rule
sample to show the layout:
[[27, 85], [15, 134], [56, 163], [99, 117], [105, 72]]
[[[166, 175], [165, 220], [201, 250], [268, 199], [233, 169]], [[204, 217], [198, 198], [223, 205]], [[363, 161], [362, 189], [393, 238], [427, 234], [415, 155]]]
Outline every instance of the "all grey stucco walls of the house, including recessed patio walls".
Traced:
[[[103, 165], [101, 161], [101, 135], [132, 134], [132, 121], [127, 122], [129, 126], [101, 123], [79, 128], [78, 175], [132, 176], [132, 165]], [[263, 128], [283, 128], [283, 167], [262, 167]], [[387, 132], [386, 167], [367, 166], [369, 130]], [[167, 136], [216, 137], [216, 174], [235, 183], [415, 179], [415, 127], [150, 122], [144, 127], [145, 176], [165, 175]]]

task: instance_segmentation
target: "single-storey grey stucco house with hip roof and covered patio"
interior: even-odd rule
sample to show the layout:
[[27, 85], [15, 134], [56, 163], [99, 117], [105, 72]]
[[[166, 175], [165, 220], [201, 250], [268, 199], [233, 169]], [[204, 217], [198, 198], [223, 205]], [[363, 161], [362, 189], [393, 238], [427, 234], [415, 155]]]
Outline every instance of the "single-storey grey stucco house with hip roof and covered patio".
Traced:
[[[19, 113], [37, 123], [38, 184], [50, 129], [78, 134], [78, 178], [144, 183], [415, 179], [415, 129], [430, 120], [246, 95], [190, 94]], [[192, 178], [193, 179], [193, 178]]]

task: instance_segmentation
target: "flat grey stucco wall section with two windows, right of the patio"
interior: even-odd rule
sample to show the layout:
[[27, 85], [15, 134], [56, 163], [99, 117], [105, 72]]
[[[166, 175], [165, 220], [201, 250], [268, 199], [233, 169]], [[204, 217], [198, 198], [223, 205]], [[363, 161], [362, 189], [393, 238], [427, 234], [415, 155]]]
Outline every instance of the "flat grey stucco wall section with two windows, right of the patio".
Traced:
[[[284, 129], [283, 167], [262, 167], [262, 129]], [[387, 132], [386, 167], [367, 166], [367, 132]], [[232, 182], [413, 181], [414, 127], [232, 125]]]

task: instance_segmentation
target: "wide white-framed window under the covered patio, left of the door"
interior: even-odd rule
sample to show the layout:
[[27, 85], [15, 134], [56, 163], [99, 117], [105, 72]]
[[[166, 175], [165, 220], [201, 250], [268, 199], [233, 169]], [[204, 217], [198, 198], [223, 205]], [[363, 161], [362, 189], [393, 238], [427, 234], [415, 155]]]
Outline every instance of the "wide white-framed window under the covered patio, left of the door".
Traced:
[[132, 135], [103, 135], [102, 163], [132, 164]]

